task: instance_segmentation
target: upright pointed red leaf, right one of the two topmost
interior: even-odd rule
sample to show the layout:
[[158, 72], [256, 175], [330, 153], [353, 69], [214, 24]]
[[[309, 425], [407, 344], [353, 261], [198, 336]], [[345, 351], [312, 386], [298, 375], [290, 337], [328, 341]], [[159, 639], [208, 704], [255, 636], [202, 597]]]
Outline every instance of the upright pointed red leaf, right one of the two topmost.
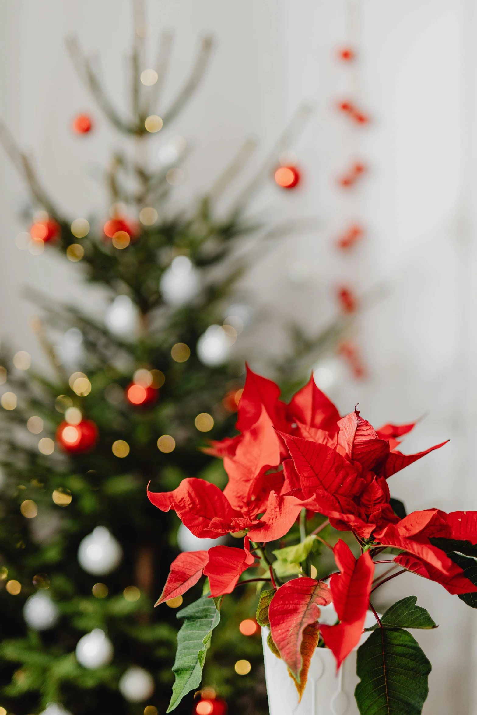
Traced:
[[327, 432], [338, 431], [340, 413], [335, 405], [317, 387], [313, 375], [304, 388], [299, 390], [287, 405], [287, 418], [301, 422], [307, 427], [320, 428]]

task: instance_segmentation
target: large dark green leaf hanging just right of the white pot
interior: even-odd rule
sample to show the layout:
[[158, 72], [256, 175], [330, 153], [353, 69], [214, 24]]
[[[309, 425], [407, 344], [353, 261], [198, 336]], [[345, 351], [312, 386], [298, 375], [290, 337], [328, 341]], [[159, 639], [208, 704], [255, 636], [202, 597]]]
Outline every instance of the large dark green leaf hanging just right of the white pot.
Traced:
[[358, 649], [355, 698], [361, 715], [420, 715], [431, 664], [402, 628], [378, 628]]

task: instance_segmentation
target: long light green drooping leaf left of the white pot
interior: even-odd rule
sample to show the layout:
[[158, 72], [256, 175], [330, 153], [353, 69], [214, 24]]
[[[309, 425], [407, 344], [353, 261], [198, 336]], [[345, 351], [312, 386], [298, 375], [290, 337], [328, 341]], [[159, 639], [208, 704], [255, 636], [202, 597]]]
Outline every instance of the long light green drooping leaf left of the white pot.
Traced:
[[185, 621], [177, 633], [177, 653], [172, 668], [175, 682], [167, 712], [177, 707], [190, 690], [200, 686], [212, 629], [220, 621], [216, 600], [220, 599], [202, 596], [177, 613], [177, 618], [185, 618]]

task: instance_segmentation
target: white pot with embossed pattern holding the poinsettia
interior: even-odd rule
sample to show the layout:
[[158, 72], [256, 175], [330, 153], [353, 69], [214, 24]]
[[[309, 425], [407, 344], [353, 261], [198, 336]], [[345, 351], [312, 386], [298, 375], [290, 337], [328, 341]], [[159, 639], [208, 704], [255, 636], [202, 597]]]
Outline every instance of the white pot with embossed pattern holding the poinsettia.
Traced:
[[[328, 621], [328, 618], [323, 620]], [[335, 622], [335, 618], [332, 622]], [[365, 627], [373, 626], [375, 622], [373, 613], [368, 611]], [[288, 675], [287, 666], [267, 646], [268, 633], [268, 628], [262, 628], [270, 715], [359, 715], [355, 701], [355, 687], [359, 682], [356, 675], [358, 648], [343, 662], [338, 674], [333, 653], [328, 648], [317, 648], [311, 659], [305, 692], [298, 703], [297, 691]], [[360, 644], [368, 636], [369, 633], [365, 633]]]

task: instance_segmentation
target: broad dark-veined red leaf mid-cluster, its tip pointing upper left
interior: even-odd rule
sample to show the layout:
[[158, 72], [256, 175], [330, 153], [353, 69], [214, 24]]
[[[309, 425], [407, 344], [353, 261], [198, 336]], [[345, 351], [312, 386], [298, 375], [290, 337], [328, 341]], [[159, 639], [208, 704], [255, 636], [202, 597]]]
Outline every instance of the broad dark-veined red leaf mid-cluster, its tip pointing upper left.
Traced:
[[305, 498], [313, 496], [320, 488], [344, 496], [354, 496], [363, 490], [365, 480], [335, 450], [300, 437], [279, 434], [292, 455]]

